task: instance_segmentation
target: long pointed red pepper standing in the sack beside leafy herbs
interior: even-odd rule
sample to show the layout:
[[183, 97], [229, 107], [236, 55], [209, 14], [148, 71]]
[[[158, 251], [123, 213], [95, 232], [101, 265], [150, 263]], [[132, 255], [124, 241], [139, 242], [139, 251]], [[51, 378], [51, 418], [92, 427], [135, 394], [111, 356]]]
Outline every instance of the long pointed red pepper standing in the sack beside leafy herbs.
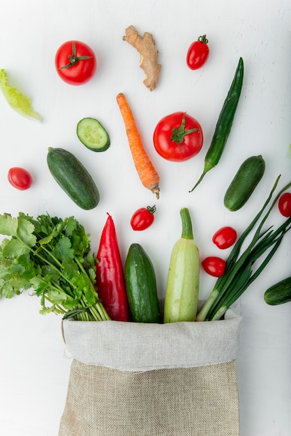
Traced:
[[97, 253], [97, 292], [112, 320], [128, 321], [130, 313], [117, 233], [112, 217], [108, 213], [107, 215]]

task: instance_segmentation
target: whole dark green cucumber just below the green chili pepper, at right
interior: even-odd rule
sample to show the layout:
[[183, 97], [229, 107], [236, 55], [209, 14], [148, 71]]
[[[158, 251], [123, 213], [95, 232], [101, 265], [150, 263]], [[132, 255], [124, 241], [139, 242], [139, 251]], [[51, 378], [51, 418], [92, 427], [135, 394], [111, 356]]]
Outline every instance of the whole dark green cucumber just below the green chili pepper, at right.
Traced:
[[248, 157], [225, 192], [225, 208], [232, 211], [242, 208], [264, 175], [264, 169], [265, 162], [261, 155]]

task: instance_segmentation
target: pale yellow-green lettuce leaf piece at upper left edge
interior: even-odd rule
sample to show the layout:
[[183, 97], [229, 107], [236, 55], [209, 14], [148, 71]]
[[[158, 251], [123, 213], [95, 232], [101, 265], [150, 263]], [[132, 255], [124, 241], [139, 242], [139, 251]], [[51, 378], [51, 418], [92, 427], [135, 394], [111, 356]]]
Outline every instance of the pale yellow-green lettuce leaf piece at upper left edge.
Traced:
[[43, 119], [38, 112], [33, 111], [31, 100], [27, 95], [22, 94], [17, 88], [10, 88], [7, 81], [7, 72], [3, 68], [0, 70], [0, 89], [9, 106], [18, 114], [30, 120], [41, 121]]

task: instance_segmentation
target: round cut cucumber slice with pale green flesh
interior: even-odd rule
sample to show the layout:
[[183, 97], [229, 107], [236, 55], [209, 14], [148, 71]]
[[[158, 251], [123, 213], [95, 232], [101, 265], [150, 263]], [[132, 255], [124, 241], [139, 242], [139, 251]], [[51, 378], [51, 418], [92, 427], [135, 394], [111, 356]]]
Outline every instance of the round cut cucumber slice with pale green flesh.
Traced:
[[110, 137], [96, 118], [82, 118], [77, 123], [77, 137], [92, 151], [105, 151], [110, 146]]

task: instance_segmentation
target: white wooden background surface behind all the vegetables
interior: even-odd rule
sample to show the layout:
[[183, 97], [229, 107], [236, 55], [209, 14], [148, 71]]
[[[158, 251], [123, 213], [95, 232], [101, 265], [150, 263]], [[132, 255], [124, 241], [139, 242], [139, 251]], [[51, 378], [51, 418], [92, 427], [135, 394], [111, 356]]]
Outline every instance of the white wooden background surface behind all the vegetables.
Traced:
[[[163, 67], [152, 93], [142, 84], [137, 52], [122, 40], [130, 24], [156, 39]], [[181, 234], [181, 207], [191, 212], [201, 258], [227, 256], [212, 244], [214, 231], [232, 225], [241, 233], [278, 174], [282, 174], [280, 186], [291, 180], [290, 24], [288, 0], [5, 2], [0, 15], [0, 68], [6, 69], [11, 86], [29, 95], [43, 122], [22, 118], [0, 94], [0, 212], [75, 215], [91, 234], [94, 251], [109, 212], [122, 258], [130, 243], [142, 244], [154, 263], [160, 295], [165, 292], [172, 246]], [[192, 71], [186, 66], [186, 52], [204, 33], [211, 54], [202, 69]], [[96, 52], [96, 76], [84, 86], [65, 84], [54, 70], [57, 48], [70, 39], [87, 42]], [[239, 56], [244, 58], [244, 86], [225, 153], [189, 194], [202, 171]], [[119, 92], [126, 94], [144, 146], [160, 173], [158, 201], [135, 173], [116, 102]], [[187, 111], [202, 125], [204, 146], [188, 162], [165, 161], [151, 141], [158, 120], [173, 111]], [[98, 118], [110, 132], [112, 144], [105, 153], [93, 153], [78, 141], [75, 127], [84, 116]], [[81, 210], [54, 182], [46, 164], [50, 146], [70, 150], [87, 166], [100, 190], [96, 209]], [[223, 206], [225, 189], [241, 162], [258, 154], [266, 162], [264, 178], [244, 208], [229, 212]], [[31, 172], [31, 189], [20, 192], [8, 184], [11, 166]], [[133, 232], [129, 225], [133, 211], [154, 203], [154, 225]], [[270, 224], [278, 222], [281, 217], [274, 210]], [[241, 436], [291, 434], [290, 303], [271, 307], [263, 299], [268, 286], [290, 275], [290, 237], [285, 236], [267, 270], [237, 304], [244, 317], [237, 359]], [[202, 298], [214, 281], [201, 272]], [[61, 338], [61, 318], [40, 316], [39, 309], [38, 299], [29, 293], [0, 301], [1, 435], [58, 433], [71, 360]]]

